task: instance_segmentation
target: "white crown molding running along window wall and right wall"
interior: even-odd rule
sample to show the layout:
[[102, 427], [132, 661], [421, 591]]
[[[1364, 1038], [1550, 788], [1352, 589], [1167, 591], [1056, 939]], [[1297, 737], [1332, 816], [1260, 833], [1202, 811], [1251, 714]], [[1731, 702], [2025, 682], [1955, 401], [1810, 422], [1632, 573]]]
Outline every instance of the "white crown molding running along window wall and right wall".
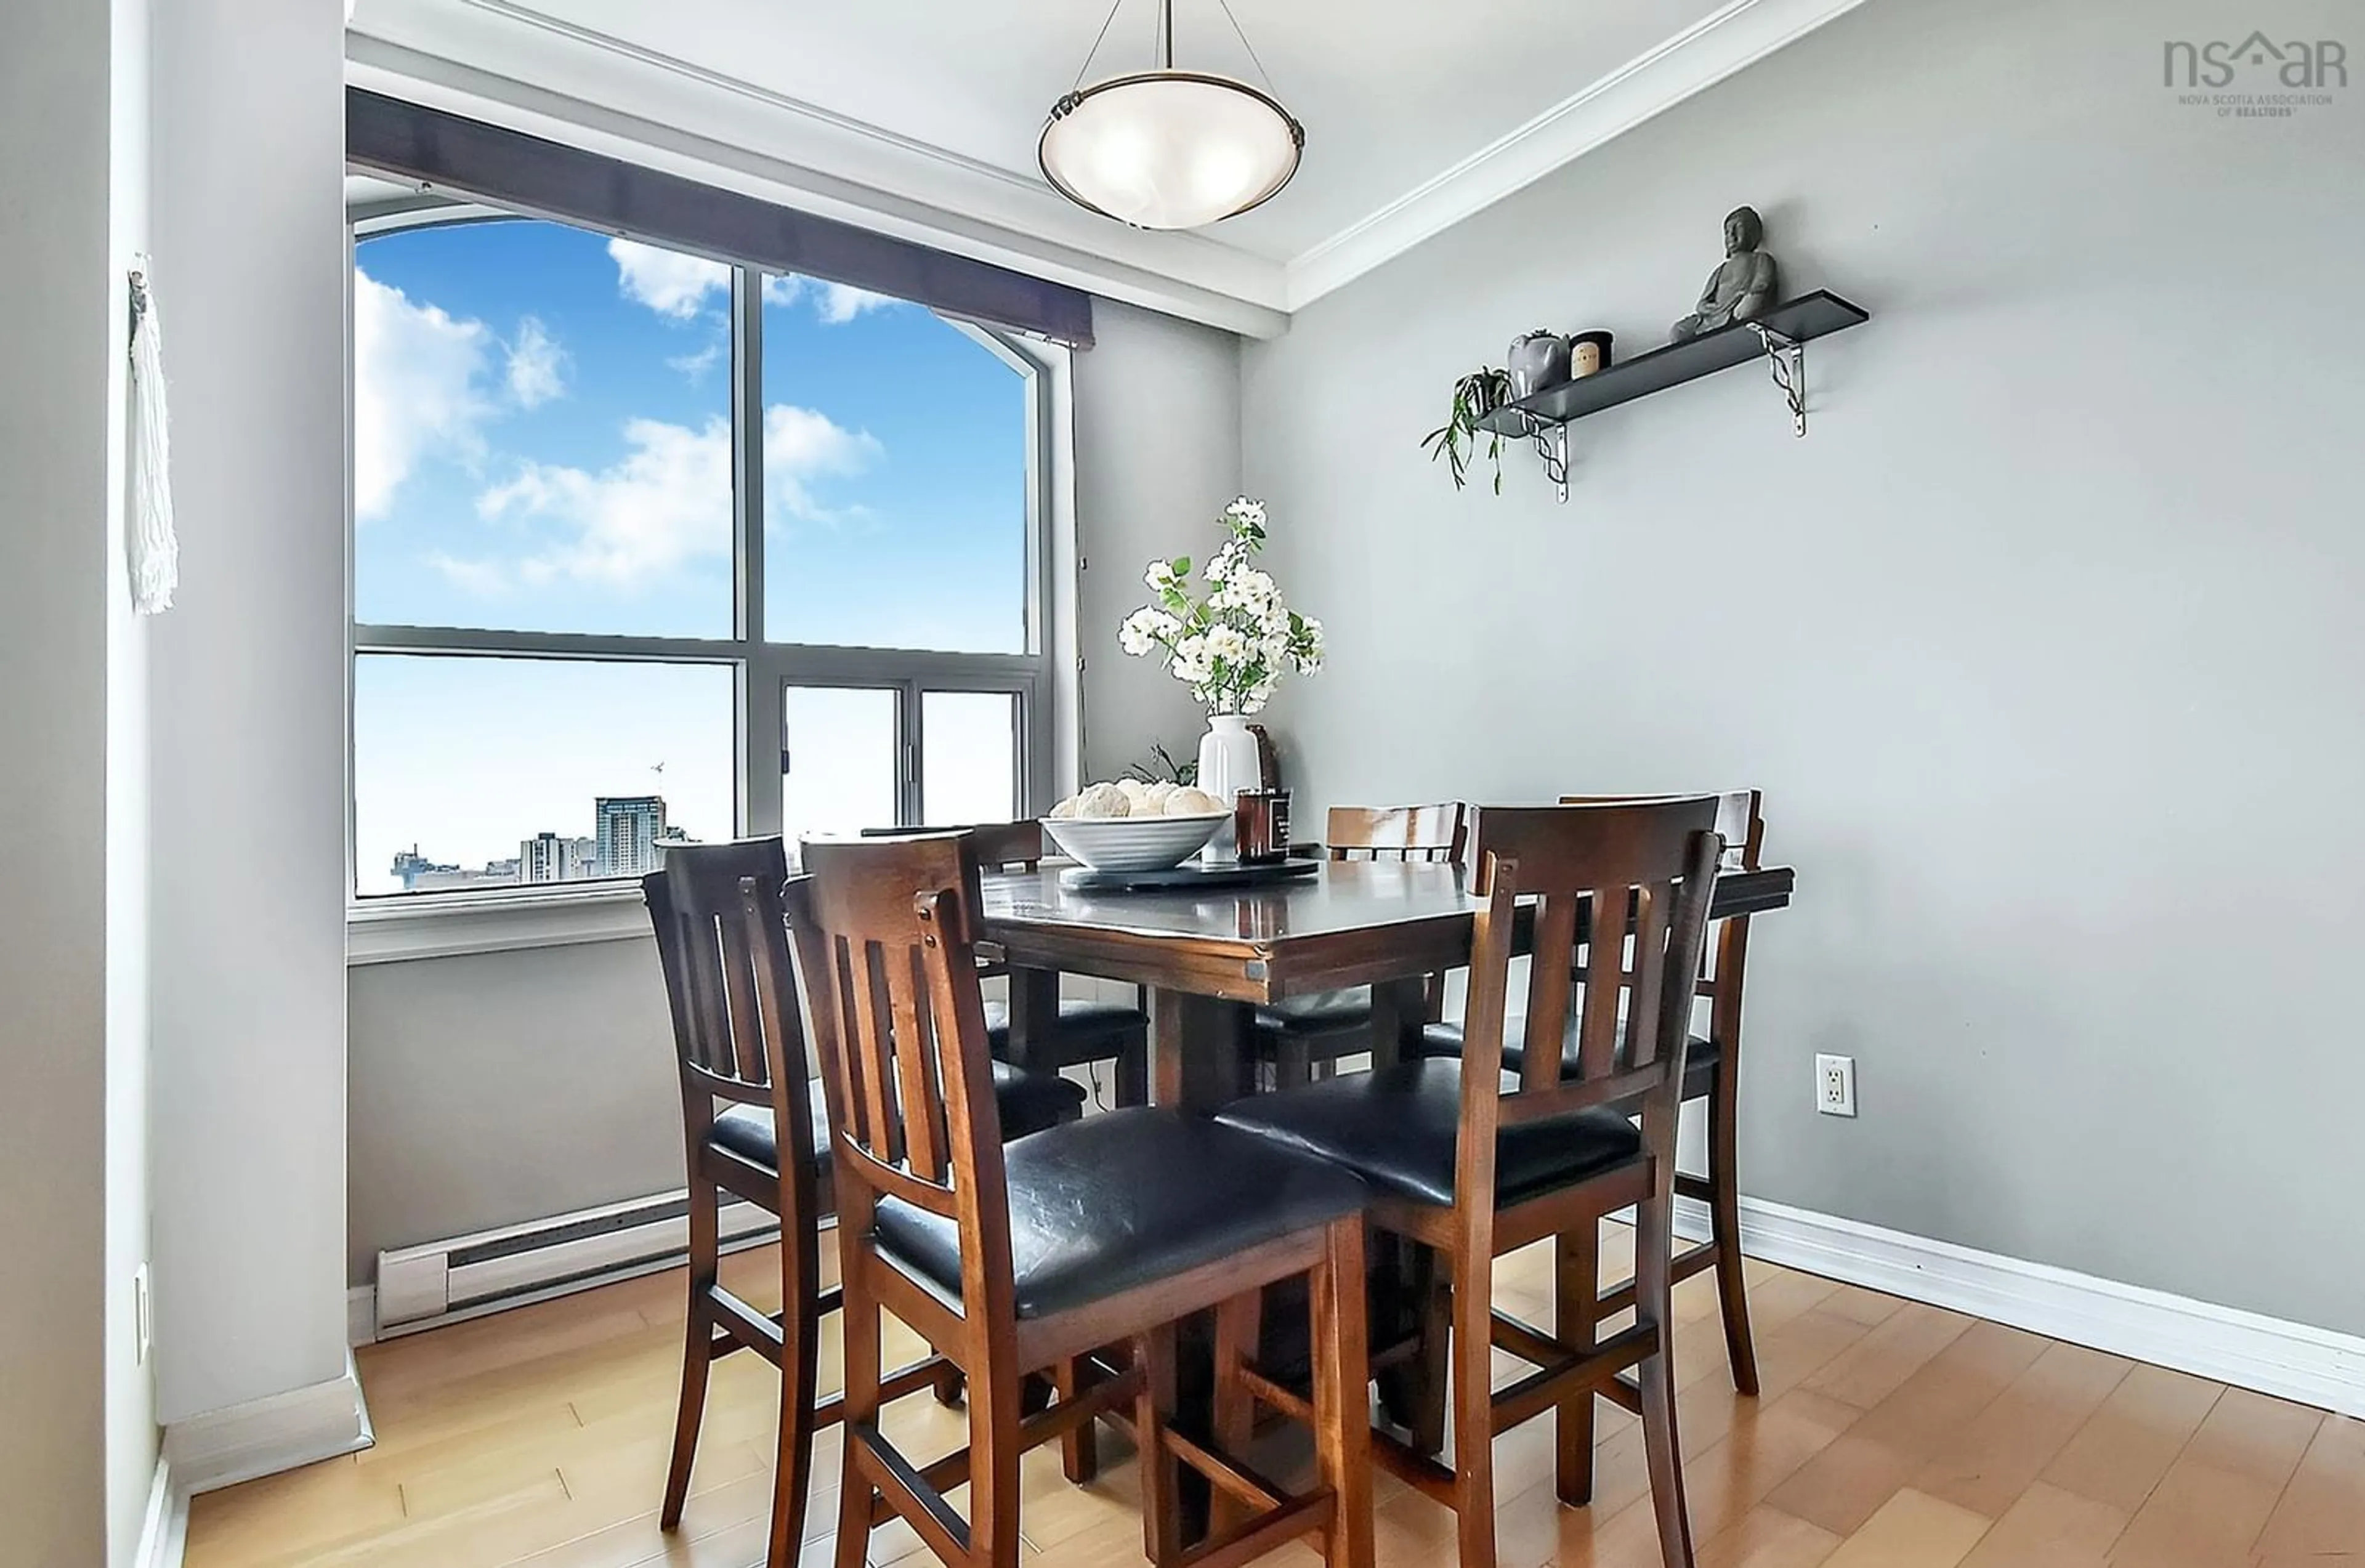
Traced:
[[1253, 338], [1861, 0], [1729, 0], [1289, 263], [1152, 234], [1045, 182], [570, 21], [534, 0], [374, 0], [348, 80]]

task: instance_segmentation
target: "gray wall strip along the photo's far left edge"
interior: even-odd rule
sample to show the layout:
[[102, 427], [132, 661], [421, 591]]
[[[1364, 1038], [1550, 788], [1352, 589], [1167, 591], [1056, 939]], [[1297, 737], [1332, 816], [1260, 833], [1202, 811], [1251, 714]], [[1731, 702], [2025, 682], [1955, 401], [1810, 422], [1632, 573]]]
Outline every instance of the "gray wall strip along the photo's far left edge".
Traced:
[[[0, 50], [0, 1563], [106, 1561], [109, 12]], [[125, 1282], [128, 1289], [128, 1282]]]

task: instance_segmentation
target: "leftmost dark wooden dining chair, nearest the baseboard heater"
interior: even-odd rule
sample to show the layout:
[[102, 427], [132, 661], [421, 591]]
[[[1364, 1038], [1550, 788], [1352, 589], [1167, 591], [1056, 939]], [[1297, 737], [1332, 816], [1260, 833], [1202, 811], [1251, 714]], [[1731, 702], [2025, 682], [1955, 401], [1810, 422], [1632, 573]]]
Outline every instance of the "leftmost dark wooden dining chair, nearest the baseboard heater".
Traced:
[[[840, 1291], [821, 1289], [830, 1128], [806, 1076], [783, 925], [785, 877], [788, 856], [773, 837], [669, 849], [665, 870], [641, 880], [674, 1017], [691, 1190], [681, 1405], [657, 1518], [667, 1530], [681, 1523], [710, 1367], [721, 1355], [754, 1350], [780, 1369], [769, 1568], [797, 1559], [814, 1431], [842, 1412], [837, 1398], [814, 1398], [821, 1317], [837, 1310]], [[1083, 1114], [1083, 1090], [1060, 1078], [998, 1069], [993, 1095], [1012, 1135]], [[759, 1313], [719, 1282], [724, 1192], [780, 1218], [780, 1313]], [[944, 1395], [953, 1376], [948, 1362], [929, 1360], [882, 1379], [880, 1398], [915, 1388]]]

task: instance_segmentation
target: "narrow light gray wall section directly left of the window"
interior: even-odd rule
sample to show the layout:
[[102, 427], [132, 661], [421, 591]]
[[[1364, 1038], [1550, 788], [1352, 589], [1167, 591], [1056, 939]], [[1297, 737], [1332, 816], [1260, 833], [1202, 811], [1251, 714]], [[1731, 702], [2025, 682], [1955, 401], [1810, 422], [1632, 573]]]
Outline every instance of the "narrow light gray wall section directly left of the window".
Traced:
[[180, 598], [154, 627], [166, 1424], [345, 1372], [345, 54], [156, 7]]

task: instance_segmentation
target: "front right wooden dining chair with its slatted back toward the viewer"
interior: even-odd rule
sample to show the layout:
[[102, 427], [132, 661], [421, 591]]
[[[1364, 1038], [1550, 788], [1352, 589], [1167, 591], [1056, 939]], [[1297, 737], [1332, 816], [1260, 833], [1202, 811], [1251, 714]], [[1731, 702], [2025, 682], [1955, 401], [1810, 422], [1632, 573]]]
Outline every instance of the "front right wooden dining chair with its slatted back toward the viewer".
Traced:
[[[1374, 1457], [1454, 1509], [1464, 1563], [1495, 1561], [1490, 1440], [1556, 1412], [1559, 1497], [1589, 1502], [1594, 1398], [1620, 1386], [1627, 1369], [1637, 1374], [1660, 1556], [1667, 1568], [1691, 1563], [1670, 1358], [1674, 1123], [1722, 851], [1715, 821], [1715, 797], [1480, 806], [1473, 837], [1483, 908], [1462, 1057], [1348, 1074], [1218, 1114], [1225, 1126], [1355, 1171], [1372, 1183], [1374, 1223], [1443, 1261], [1452, 1466], [1393, 1433], [1374, 1438]], [[1502, 1064], [1514, 925], [1530, 896], [1525, 1052], [1511, 1076]], [[1549, 953], [1582, 960], [1592, 984], [1573, 986], [1570, 967], [1547, 963]], [[1637, 1026], [1622, 1031], [1618, 979], [1627, 972]], [[1570, 1010], [1573, 1071], [1559, 1050]], [[1599, 1339], [1599, 1227], [1627, 1204], [1634, 1324]], [[1492, 1308], [1492, 1261], [1542, 1239], [1556, 1249], [1551, 1331]], [[1490, 1393], [1495, 1350], [1535, 1369]]]

